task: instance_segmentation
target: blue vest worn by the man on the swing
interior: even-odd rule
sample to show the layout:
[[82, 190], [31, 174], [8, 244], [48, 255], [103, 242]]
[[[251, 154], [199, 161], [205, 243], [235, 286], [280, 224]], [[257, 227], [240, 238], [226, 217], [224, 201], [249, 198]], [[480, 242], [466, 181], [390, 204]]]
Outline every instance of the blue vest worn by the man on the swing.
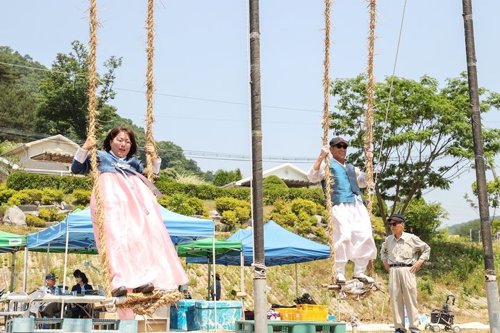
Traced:
[[[346, 164], [345, 168], [337, 161], [330, 161], [330, 170], [335, 184], [332, 185], [332, 204], [356, 202], [356, 195], [361, 195], [356, 179], [354, 165]], [[322, 180], [322, 187], [326, 195], [326, 182]], [[362, 198], [363, 199], [363, 198]]]

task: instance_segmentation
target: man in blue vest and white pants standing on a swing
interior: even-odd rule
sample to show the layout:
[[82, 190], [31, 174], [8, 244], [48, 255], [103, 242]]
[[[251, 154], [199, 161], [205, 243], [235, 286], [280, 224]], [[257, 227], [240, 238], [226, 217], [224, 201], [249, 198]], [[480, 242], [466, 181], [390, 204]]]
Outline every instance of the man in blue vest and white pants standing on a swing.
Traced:
[[346, 282], [345, 265], [351, 260], [354, 263], [353, 278], [367, 283], [374, 283], [374, 279], [365, 275], [369, 260], [376, 258], [376, 247], [372, 234], [365, 202], [360, 188], [366, 187], [365, 172], [361, 172], [354, 165], [345, 163], [349, 141], [337, 136], [330, 140], [330, 145], [322, 147], [319, 156], [308, 172], [308, 179], [317, 183], [322, 182], [326, 192], [324, 159], [330, 152], [330, 170], [333, 177], [331, 214], [333, 216], [335, 246], [335, 267], [338, 283]]

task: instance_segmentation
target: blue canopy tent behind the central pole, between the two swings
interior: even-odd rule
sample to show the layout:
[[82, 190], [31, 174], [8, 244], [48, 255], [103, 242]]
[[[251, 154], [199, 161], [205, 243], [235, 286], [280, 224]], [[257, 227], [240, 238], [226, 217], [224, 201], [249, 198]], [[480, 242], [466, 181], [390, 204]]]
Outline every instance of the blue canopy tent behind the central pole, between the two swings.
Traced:
[[[227, 241], [242, 241], [242, 257], [244, 266], [253, 263], [253, 229], [240, 229]], [[330, 257], [328, 245], [316, 243], [301, 237], [281, 227], [270, 220], [264, 225], [264, 258], [265, 266], [287, 265], [295, 263], [296, 293], [298, 296], [299, 286], [297, 284], [297, 263], [327, 259]], [[206, 258], [187, 258], [188, 263], [208, 263]], [[224, 255], [215, 259], [215, 263], [222, 265], [240, 266], [240, 256]]]

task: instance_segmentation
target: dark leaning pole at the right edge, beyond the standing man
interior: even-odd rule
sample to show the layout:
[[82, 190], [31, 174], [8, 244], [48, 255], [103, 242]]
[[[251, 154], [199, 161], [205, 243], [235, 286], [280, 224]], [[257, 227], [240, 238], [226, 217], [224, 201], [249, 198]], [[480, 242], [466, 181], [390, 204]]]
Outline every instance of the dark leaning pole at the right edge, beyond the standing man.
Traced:
[[465, 51], [467, 53], [467, 75], [469, 77], [469, 108], [472, 118], [474, 159], [476, 161], [476, 181], [478, 188], [479, 218], [483, 236], [485, 261], [485, 289], [490, 318], [490, 332], [500, 332], [499, 290], [497, 273], [494, 270], [490, 211], [486, 192], [486, 172], [483, 149], [483, 131], [479, 112], [479, 94], [476, 68], [476, 48], [474, 46], [474, 24], [472, 22], [472, 0], [462, 0], [465, 31]]

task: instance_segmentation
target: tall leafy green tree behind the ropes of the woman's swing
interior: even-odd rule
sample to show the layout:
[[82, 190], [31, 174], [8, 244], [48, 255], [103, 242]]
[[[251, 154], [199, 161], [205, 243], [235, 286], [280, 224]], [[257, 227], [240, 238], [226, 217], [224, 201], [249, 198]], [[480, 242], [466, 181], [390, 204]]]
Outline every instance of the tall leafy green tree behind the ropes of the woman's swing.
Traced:
[[[106, 72], [98, 75], [97, 111], [99, 120], [108, 122], [115, 108], [106, 102], [115, 97], [113, 83], [115, 70], [122, 65], [122, 58], [112, 56], [103, 64]], [[40, 82], [38, 98], [38, 130], [44, 133], [60, 133], [72, 138], [87, 137], [88, 122], [88, 50], [75, 40], [69, 54], [58, 54]]]

